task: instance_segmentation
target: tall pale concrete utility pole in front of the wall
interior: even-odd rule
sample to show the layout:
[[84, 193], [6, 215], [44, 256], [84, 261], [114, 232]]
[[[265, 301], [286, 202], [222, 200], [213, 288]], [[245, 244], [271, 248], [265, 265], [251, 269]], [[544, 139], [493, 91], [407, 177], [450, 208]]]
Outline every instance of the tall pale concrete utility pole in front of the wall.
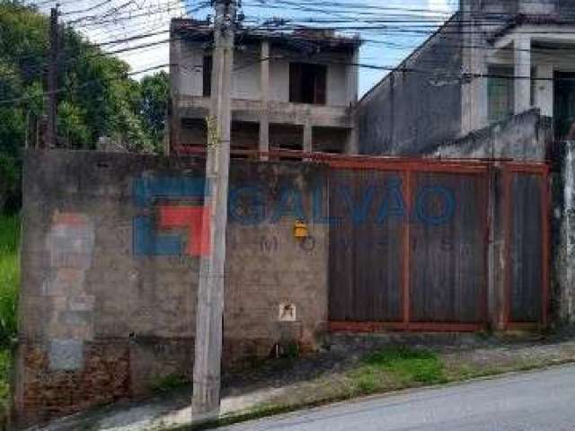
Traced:
[[194, 359], [193, 422], [217, 418], [220, 409], [224, 271], [226, 267], [227, 190], [236, 0], [215, 0], [211, 110], [208, 119], [205, 206], [202, 229], [209, 229], [208, 254], [199, 267]]

